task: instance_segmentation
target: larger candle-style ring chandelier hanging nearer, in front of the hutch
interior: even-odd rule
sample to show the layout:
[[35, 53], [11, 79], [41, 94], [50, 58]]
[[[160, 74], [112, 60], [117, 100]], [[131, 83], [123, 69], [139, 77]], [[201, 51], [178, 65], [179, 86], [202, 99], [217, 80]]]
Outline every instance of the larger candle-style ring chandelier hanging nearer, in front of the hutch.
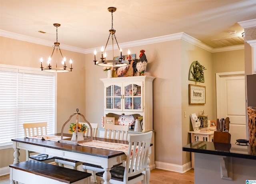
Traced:
[[[124, 59], [124, 56], [122, 56], [122, 49], [119, 48], [119, 45], [118, 45], [118, 42], [116, 40], [116, 30], [114, 30], [113, 28], [113, 12], [116, 11], [116, 8], [115, 7], [109, 7], [108, 8], [108, 11], [111, 12], [111, 17], [112, 17], [112, 23], [111, 23], [111, 29], [109, 30], [110, 34], [108, 36], [108, 40], [107, 40], [107, 43], [106, 43], [106, 46], [105, 48], [101, 48], [101, 58], [100, 58], [100, 61], [97, 61], [96, 60], [96, 49], [94, 50], [94, 64], [98, 65], [98, 66], [112, 66], [112, 67], [120, 67], [120, 66], [127, 66], [129, 64], [129, 61], [125, 61]], [[106, 47], [108, 45], [108, 41], [109, 41], [109, 38], [111, 36], [111, 39], [112, 39], [112, 60], [106, 60]], [[118, 60], [114, 60], [114, 39], [116, 40], [116, 44], [118, 46], [118, 50], [120, 52], [120, 58], [118, 58]], [[130, 57], [129, 57], [130, 58]]]

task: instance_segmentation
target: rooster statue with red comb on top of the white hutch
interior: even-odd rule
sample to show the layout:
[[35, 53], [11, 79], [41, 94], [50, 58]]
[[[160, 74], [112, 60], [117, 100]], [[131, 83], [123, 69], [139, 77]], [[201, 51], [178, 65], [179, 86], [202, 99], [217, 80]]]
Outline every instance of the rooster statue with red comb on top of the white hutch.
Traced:
[[140, 59], [135, 59], [134, 62], [132, 63], [134, 74], [138, 71], [140, 75], [144, 75], [144, 71], [146, 70], [148, 64], [144, 52], [145, 50], [140, 50]]

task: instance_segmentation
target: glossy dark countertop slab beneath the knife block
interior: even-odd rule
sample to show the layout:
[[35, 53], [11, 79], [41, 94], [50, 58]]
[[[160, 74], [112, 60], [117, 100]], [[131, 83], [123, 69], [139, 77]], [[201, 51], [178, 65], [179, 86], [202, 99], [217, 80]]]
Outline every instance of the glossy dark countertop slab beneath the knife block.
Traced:
[[183, 151], [230, 156], [256, 160], [256, 147], [218, 142], [195, 141], [182, 147]]

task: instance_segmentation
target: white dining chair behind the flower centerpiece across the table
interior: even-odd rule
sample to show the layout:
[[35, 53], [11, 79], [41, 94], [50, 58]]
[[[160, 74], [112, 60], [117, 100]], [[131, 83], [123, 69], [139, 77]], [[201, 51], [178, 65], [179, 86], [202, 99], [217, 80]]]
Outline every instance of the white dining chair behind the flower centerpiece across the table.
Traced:
[[[85, 132], [85, 136], [90, 136], [91, 135], [91, 130], [90, 130], [90, 126], [86, 123], [86, 122], [79, 122], [82, 124], [86, 124], [87, 125], [87, 129]], [[92, 136], [96, 137], [97, 136], [97, 130], [98, 130], [98, 123], [90, 123], [92, 126]], [[55, 158], [55, 162], [59, 164], [59, 166], [64, 166], [64, 164], [73, 166], [73, 169], [77, 170], [77, 167], [81, 164], [83, 164], [83, 162], [78, 162], [76, 160], [70, 160], [70, 159], [65, 159], [65, 158], [59, 158], [56, 157]]]

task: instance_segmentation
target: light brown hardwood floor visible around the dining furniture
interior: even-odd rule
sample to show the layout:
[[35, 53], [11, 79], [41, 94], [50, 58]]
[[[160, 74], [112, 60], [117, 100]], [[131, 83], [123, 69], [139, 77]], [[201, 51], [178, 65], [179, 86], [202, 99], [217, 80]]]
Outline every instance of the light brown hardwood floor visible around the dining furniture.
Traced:
[[[0, 184], [9, 183], [9, 175], [0, 177]], [[93, 183], [93, 181], [91, 183]], [[141, 182], [138, 182], [137, 184], [141, 184]], [[194, 169], [191, 169], [185, 173], [161, 169], [151, 170], [150, 184], [194, 184]]]

